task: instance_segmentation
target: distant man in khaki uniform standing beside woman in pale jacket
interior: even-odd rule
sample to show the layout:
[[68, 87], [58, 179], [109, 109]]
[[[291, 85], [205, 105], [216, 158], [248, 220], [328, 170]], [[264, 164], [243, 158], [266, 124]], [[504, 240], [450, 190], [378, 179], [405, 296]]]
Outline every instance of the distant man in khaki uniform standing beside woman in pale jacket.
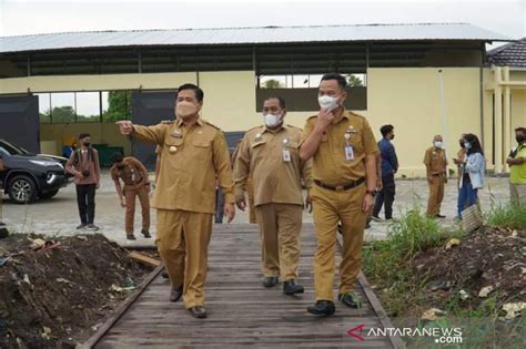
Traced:
[[435, 135], [433, 146], [427, 148], [424, 155], [427, 183], [429, 184], [427, 216], [432, 218], [445, 218], [441, 215], [441, 204], [444, 199], [444, 184], [447, 181], [447, 158], [446, 151], [442, 148], [442, 135]]

